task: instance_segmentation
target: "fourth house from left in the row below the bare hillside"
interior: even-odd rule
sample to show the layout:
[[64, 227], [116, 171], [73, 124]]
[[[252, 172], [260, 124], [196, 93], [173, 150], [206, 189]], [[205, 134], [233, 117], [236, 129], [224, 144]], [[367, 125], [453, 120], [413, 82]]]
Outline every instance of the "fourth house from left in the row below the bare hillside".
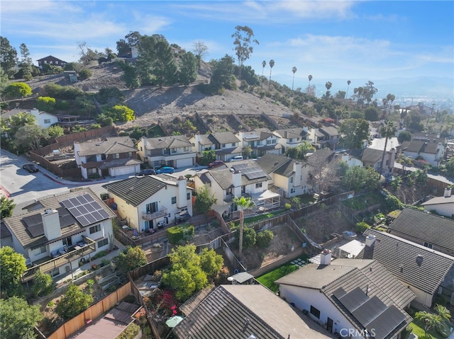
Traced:
[[277, 142], [277, 136], [267, 128], [256, 128], [248, 132], [238, 132], [241, 147], [250, 147], [253, 156], [263, 156], [265, 153], [281, 154], [282, 145]]

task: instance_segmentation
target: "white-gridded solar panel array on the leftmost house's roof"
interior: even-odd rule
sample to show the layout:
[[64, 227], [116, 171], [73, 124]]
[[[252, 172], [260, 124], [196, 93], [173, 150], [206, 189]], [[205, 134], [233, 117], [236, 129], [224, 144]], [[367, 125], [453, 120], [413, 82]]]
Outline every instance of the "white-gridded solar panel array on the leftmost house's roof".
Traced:
[[61, 203], [82, 226], [109, 218], [109, 214], [89, 194], [72, 197]]

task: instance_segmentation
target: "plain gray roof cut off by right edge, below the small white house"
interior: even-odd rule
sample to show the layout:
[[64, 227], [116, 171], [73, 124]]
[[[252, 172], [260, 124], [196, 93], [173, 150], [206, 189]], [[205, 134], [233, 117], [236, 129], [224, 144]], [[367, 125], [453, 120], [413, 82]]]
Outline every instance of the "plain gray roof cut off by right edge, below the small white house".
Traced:
[[[446, 199], [441, 197], [441, 199]], [[454, 220], [439, 217], [428, 212], [406, 208], [389, 225], [391, 234], [397, 231], [401, 234], [448, 248], [454, 252]]]

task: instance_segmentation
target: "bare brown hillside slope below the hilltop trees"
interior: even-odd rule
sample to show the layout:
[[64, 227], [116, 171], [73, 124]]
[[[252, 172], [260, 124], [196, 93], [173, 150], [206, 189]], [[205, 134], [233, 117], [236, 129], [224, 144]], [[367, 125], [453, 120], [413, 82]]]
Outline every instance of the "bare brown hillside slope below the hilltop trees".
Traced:
[[[89, 67], [93, 75], [87, 80], [69, 84], [62, 74], [40, 76], [27, 83], [33, 93], [39, 93], [48, 82], [62, 86], [77, 86], [84, 91], [94, 92], [100, 88], [116, 87], [125, 93], [125, 104], [135, 112], [136, 119], [123, 124], [117, 124], [119, 130], [129, 130], [135, 126], [148, 127], [161, 122], [184, 120], [194, 113], [201, 115], [216, 115], [214, 127], [228, 129], [224, 115], [235, 113], [238, 116], [260, 115], [266, 113], [272, 116], [282, 128], [291, 127], [288, 119], [282, 120], [282, 115], [292, 115], [292, 111], [279, 103], [273, 103], [270, 98], [244, 91], [226, 90], [222, 96], [207, 96], [197, 90], [196, 84], [209, 81], [209, 67], [207, 64], [199, 71], [196, 84], [192, 86], [173, 86], [158, 88], [156, 86], [131, 90], [124, 86], [121, 80], [121, 70], [115, 64], [104, 64]], [[239, 82], [238, 82], [239, 86]], [[217, 121], [216, 121], [217, 120]], [[282, 120], [282, 121], [279, 121]], [[212, 131], [214, 132], [214, 131]]]

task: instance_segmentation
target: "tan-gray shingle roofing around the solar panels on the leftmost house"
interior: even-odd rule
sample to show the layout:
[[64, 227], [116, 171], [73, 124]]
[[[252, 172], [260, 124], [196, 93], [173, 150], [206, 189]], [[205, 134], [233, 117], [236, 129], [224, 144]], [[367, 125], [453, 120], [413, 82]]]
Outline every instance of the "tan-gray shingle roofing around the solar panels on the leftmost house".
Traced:
[[[11, 233], [13, 233], [16, 236], [16, 238], [18, 239], [19, 243], [21, 243], [21, 246], [23, 248], [38, 248], [39, 246], [48, 243], [48, 239], [45, 237], [45, 235], [35, 236], [33, 238], [33, 236], [31, 236], [31, 234], [27, 231], [24, 219], [29, 217], [35, 217], [36, 219], [40, 219], [41, 217], [40, 214], [42, 214], [45, 211], [45, 209], [65, 209], [65, 207], [62, 207], [62, 204], [60, 203], [61, 201], [70, 199], [72, 197], [79, 197], [80, 195], [85, 194], [89, 194], [94, 199], [94, 201], [96, 201], [99, 204], [99, 206], [101, 206], [104, 209], [104, 211], [107, 212], [107, 214], [109, 214], [109, 218], [116, 217], [114, 212], [112, 212], [111, 209], [107, 207], [106, 204], [104, 204], [104, 202], [101, 199], [99, 199], [99, 197], [96, 194], [94, 194], [92, 190], [90, 190], [89, 188], [82, 188], [70, 191], [68, 193], [63, 193], [61, 195], [45, 197], [39, 200], [43, 208], [33, 210], [32, 212], [28, 212], [26, 214], [20, 214], [17, 216], [5, 218], [4, 223], [6, 224], [6, 226], [8, 226], [9, 231], [11, 231]], [[67, 236], [77, 234], [86, 229], [81, 224], [79, 224], [74, 218], [72, 219], [70, 218], [68, 220], [70, 221], [72, 220], [72, 222], [69, 226], [62, 228], [62, 236], [59, 239], [63, 239]], [[56, 239], [53, 239], [52, 241], [55, 240]]]

